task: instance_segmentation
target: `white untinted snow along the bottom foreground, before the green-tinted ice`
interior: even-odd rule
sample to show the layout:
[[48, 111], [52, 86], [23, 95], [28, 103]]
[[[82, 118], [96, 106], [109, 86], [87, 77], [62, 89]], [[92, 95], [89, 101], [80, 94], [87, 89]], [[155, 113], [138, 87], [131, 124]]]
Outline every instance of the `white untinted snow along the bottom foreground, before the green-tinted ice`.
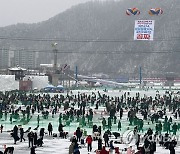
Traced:
[[[0, 150], [3, 150], [4, 144], [6, 144], [7, 147], [9, 146], [14, 146], [15, 151], [14, 154], [29, 154], [30, 149], [28, 148], [28, 141], [26, 140], [25, 142], [17, 142], [16, 145], [13, 144], [12, 138], [9, 136], [9, 133], [3, 132], [3, 134], [0, 134]], [[68, 154], [68, 148], [70, 145], [69, 139], [60, 139], [58, 138], [53, 138], [46, 136], [44, 139], [44, 145], [43, 147], [38, 147], [36, 148], [36, 153], [37, 154]], [[116, 147], [119, 147], [120, 149], [124, 149], [125, 147], [128, 147], [128, 144], [114, 144]], [[132, 144], [131, 144], [132, 145]], [[93, 142], [92, 146], [92, 151], [91, 153], [95, 153], [94, 151], [97, 149], [97, 141]], [[135, 149], [135, 146], [133, 146]], [[107, 148], [108, 149], [108, 148]], [[80, 149], [80, 152], [82, 154], [87, 154], [87, 148], [82, 147]], [[124, 154], [126, 153], [125, 151], [123, 152]], [[157, 151], [155, 152], [157, 154], [169, 154], [169, 150], [164, 149], [163, 147], [160, 147], [157, 145]], [[180, 153], [180, 147], [176, 148], [176, 153]]]

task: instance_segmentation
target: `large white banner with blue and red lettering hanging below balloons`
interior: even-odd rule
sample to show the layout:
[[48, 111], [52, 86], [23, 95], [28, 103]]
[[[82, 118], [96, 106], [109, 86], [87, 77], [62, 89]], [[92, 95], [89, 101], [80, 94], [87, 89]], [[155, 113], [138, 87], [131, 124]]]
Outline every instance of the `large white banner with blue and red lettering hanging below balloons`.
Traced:
[[135, 20], [134, 40], [153, 40], [154, 20]]

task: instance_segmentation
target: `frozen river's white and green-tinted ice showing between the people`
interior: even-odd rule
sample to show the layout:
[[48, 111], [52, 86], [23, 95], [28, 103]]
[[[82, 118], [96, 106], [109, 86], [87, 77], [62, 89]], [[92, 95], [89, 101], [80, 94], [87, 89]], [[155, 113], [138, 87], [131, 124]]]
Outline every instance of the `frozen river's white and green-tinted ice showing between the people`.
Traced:
[[[83, 90], [83, 91], [72, 91], [73, 94], [77, 94], [78, 92], [83, 92], [86, 94], [92, 94], [92, 92], [95, 92], [97, 94], [97, 90], [96, 91], [89, 91], [89, 90]], [[118, 90], [111, 90], [108, 92], [104, 92], [104, 91], [100, 91], [101, 94], [106, 94], [109, 95], [111, 97], [117, 96], [120, 97], [121, 95], [123, 95], [125, 92], [127, 91], [118, 91]], [[163, 95], [165, 93], [165, 91], [159, 90], [149, 90], [149, 91], [138, 91], [138, 90], [134, 90], [134, 91], [129, 91], [130, 92], [130, 96], [135, 96], [137, 92], [140, 92], [140, 97], [144, 97], [144, 96], [152, 96], [155, 97], [157, 94], [159, 95]], [[51, 96], [54, 94], [50, 94]], [[66, 95], [66, 94], [64, 94]], [[21, 105], [21, 103], [19, 103], [17, 105], [17, 107], [19, 107]], [[23, 106], [22, 106], [23, 107]], [[86, 110], [88, 110], [89, 108], [93, 108], [94, 106], [89, 106]], [[98, 110], [94, 109], [94, 118], [93, 118], [93, 124], [96, 124], [97, 126], [101, 126], [101, 121], [102, 121], [102, 117], [107, 118], [109, 115], [106, 114], [104, 112], [105, 107], [101, 106], [99, 107]], [[158, 110], [158, 109], [157, 109]], [[4, 145], [8, 146], [14, 146], [15, 151], [14, 154], [29, 154], [30, 153], [30, 149], [28, 148], [28, 140], [27, 140], [27, 134], [25, 134], [25, 138], [26, 141], [25, 142], [17, 142], [16, 145], [14, 145], [14, 141], [13, 138], [10, 137], [10, 133], [8, 131], [12, 130], [14, 125], [22, 125], [22, 127], [24, 128], [24, 130], [26, 130], [28, 127], [32, 127], [32, 129], [34, 129], [37, 126], [37, 116], [40, 115], [40, 127], [39, 128], [45, 128], [45, 132], [47, 132], [47, 126], [48, 123], [51, 122], [53, 125], [53, 133], [58, 133], [58, 117], [59, 117], [59, 113], [64, 113], [65, 111], [63, 109], [60, 109], [58, 111], [58, 113], [54, 116], [54, 118], [52, 117], [52, 113], [50, 112], [50, 115], [48, 117], [48, 119], [44, 119], [42, 118], [41, 114], [35, 113], [32, 116], [32, 119], [30, 120], [30, 122], [26, 125], [23, 125], [23, 123], [21, 123], [20, 121], [16, 121], [15, 119], [13, 120], [13, 123], [11, 124], [9, 121], [9, 114], [7, 117], [7, 120], [4, 120], [4, 117], [1, 119], [0, 124], [2, 124], [4, 126], [3, 129], [3, 133], [0, 134], [0, 150], [3, 150]], [[153, 111], [152, 111], [153, 112]], [[167, 112], [168, 117], [172, 116], [171, 112]], [[142, 116], [140, 114], [138, 114], [138, 117], [141, 118]], [[172, 116], [173, 117], [173, 116]], [[119, 114], [117, 114], [117, 121], [119, 119]], [[63, 121], [65, 123], [65, 121]], [[144, 130], [147, 130], [148, 128], [155, 128], [155, 124], [148, 124], [149, 121], [144, 121]], [[173, 118], [173, 122], [179, 122], [179, 119], [174, 119]], [[122, 123], [122, 129], [120, 131], [120, 134], [123, 136], [123, 134], [127, 131], [127, 128], [129, 127], [130, 130], [133, 130], [134, 126], [129, 126], [129, 121], [127, 121], [127, 111], [124, 111], [124, 115], [123, 118], [121, 120]], [[67, 131], [69, 133], [69, 137], [71, 137], [74, 133], [74, 131], [76, 130], [76, 128], [79, 126], [79, 123], [76, 121], [73, 121], [70, 123], [70, 126], [66, 126], [64, 127], [64, 130]], [[92, 128], [89, 127], [83, 127], [82, 129], [86, 129], [88, 134], [92, 134]], [[34, 130], [35, 131], [35, 130]], [[36, 132], [39, 134], [39, 130], [36, 130]], [[117, 132], [117, 124], [113, 124], [112, 126], [112, 132]], [[102, 134], [104, 133], [104, 131], [102, 131]], [[177, 133], [177, 138], [179, 137], [180, 133]], [[111, 138], [112, 140], [114, 140], [114, 137]], [[126, 139], [124, 139], [126, 140]], [[37, 154], [68, 154], [68, 148], [70, 145], [70, 139], [61, 139], [59, 137], [50, 137], [48, 135], [45, 135], [44, 138], [44, 145], [43, 147], [38, 147], [36, 148], [36, 153]], [[133, 143], [131, 143], [131, 145], [135, 148], [135, 146], [133, 145]], [[176, 153], [180, 153], [180, 147], [179, 147], [179, 142], [178, 142], [178, 146], [176, 147]], [[126, 144], [115, 144], [115, 146], [120, 147], [120, 149], [124, 149], [127, 148], [129, 146], [128, 143]], [[97, 149], [97, 141], [93, 142], [93, 152], [91, 153], [95, 153], [94, 151]], [[81, 148], [80, 149], [82, 154], [86, 154], [87, 149], [86, 148]], [[125, 152], [123, 152], [125, 153]], [[160, 147], [159, 144], [157, 144], [157, 151], [155, 152], [157, 154], [169, 154], [169, 150], [164, 149], [163, 147]]]

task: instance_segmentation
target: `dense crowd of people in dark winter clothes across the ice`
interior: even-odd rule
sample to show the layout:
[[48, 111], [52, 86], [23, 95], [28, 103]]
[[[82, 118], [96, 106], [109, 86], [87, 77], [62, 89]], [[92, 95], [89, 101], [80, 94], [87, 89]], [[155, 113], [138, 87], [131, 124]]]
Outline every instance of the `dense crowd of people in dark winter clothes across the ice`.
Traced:
[[[21, 106], [15, 108], [19, 102], [25, 106], [25, 109]], [[100, 111], [101, 118], [99, 126], [93, 123], [98, 111]], [[131, 96], [130, 92], [124, 92], [121, 96], [115, 97], [100, 92], [92, 92], [91, 94], [80, 92], [73, 94], [71, 92], [67, 95], [55, 94], [53, 96], [49, 94], [0, 93], [0, 119], [4, 117], [5, 120], [8, 120], [9, 116], [10, 124], [13, 124], [13, 119], [16, 119], [22, 125], [26, 125], [36, 112], [40, 113], [37, 116], [36, 130], [39, 129], [41, 118], [48, 120], [49, 116], [54, 118], [55, 115], [58, 115], [58, 136], [61, 138], [68, 136], [68, 132], [63, 129], [64, 127], [73, 122], [79, 123], [75, 137], [71, 140], [70, 154], [80, 153], [79, 147], [85, 143], [87, 143], [87, 151], [91, 152], [92, 142], [95, 140], [97, 140], [96, 150], [100, 154], [102, 154], [101, 151], [106, 151], [106, 147], [109, 147], [110, 151], [114, 150], [117, 154], [120, 153], [119, 147], [114, 145], [116, 141], [113, 141], [112, 135], [116, 139], [119, 138], [118, 143], [124, 144], [120, 139], [123, 127], [126, 127], [127, 130], [133, 130], [134, 136], [137, 138], [136, 149], [133, 150], [131, 146], [123, 149], [127, 151], [127, 154], [153, 154], [156, 151], [157, 140], [155, 138], [157, 137], [162, 139], [159, 141], [159, 145], [169, 149], [173, 154], [177, 141], [172, 138], [169, 140], [167, 136], [177, 135], [177, 131], [180, 129], [180, 123], [177, 121], [180, 118], [180, 97], [178, 94], [175, 95], [168, 91], [163, 95], [156, 91], [155, 97], [141, 96], [139, 92], [135, 96]], [[167, 115], [167, 113], [171, 114]], [[129, 124], [125, 126], [123, 119], [129, 121]], [[83, 130], [86, 127], [92, 128], [92, 134], [88, 135], [87, 131]], [[114, 128], [117, 128], [116, 131]], [[1, 133], [2, 131], [3, 124], [1, 125]], [[51, 123], [48, 124], [47, 131], [49, 136], [55, 137]], [[17, 141], [25, 141], [25, 133], [27, 133], [28, 146], [32, 149], [31, 154], [33, 154], [33, 151], [35, 153], [34, 147], [43, 144], [45, 128], [41, 128], [38, 135], [31, 128], [24, 131], [22, 127], [18, 128], [15, 125], [11, 133], [14, 144]], [[97, 133], [98, 136], [95, 136]], [[149, 140], [149, 137], [146, 137], [142, 142], [142, 135], [143, 137], [151, 136], [151, 138]], [[140, 143], [143, 146], [139, 146]]]

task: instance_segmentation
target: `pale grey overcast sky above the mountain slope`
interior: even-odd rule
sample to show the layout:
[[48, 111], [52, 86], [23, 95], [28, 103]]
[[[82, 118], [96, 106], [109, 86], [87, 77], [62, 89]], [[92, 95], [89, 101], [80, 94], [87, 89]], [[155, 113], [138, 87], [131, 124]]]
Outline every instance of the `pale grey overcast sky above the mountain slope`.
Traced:
[[0, 27], [44, 21], [87, 1], [91, 0], [0, 0]]

